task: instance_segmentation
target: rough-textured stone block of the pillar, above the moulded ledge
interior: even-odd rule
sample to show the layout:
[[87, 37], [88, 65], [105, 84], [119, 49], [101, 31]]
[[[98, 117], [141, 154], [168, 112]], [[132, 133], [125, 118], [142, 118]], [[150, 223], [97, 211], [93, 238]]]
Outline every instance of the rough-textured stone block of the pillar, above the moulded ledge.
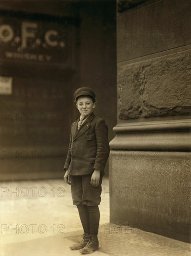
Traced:
[[190, 72], [190, 50], [119, 64], [119, 120], [191, 113]]

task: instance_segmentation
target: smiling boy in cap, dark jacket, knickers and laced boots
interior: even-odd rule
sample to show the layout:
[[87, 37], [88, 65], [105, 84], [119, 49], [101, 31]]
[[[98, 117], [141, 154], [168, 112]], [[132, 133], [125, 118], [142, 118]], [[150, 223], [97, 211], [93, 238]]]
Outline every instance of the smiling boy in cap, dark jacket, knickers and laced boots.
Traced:
[[105, 163], [110, 152], [108, 127], [92, 112], [96, 107], [96, 96], [91, 88], [77, 89], [74, 98], [81, 115], [72, 123], [64, 180], [71, 184], [72, 201], [78, 208], [84, 235], [83, 240], [70, 249], [90, 254], [99, 248], [98, 205]]

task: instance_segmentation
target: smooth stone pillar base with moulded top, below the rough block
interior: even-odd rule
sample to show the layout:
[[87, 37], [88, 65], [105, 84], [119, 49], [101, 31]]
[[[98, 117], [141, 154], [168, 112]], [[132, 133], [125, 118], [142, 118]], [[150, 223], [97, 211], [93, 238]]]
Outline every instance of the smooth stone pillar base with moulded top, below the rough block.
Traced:
[[189, 120], [118, 124], [114, 131], [111, 222], [189, 242]]

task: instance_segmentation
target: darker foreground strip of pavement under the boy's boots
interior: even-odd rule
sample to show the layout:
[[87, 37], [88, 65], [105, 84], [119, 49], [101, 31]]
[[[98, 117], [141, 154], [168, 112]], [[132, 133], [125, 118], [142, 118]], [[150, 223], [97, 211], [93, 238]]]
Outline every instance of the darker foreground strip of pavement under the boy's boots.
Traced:
[[[105, 229], [114, 228], [107, 224]], [[134, 230], [135, 231], [135, 230]], [[79, 242], [82, 230], [70, 232], [64, 236], [54, 235], [20, 243], [9, 243], [6, 254], [20, 256], [77, 256], [79, 251], [70, 250], [72, 243]], [[99, 250], [93, 256], [190, 256], [191, 245], [142, 231], [139, 234], [109, 234], [99, 232]], [[3, 255], [3, 254], [1, 254]]]

